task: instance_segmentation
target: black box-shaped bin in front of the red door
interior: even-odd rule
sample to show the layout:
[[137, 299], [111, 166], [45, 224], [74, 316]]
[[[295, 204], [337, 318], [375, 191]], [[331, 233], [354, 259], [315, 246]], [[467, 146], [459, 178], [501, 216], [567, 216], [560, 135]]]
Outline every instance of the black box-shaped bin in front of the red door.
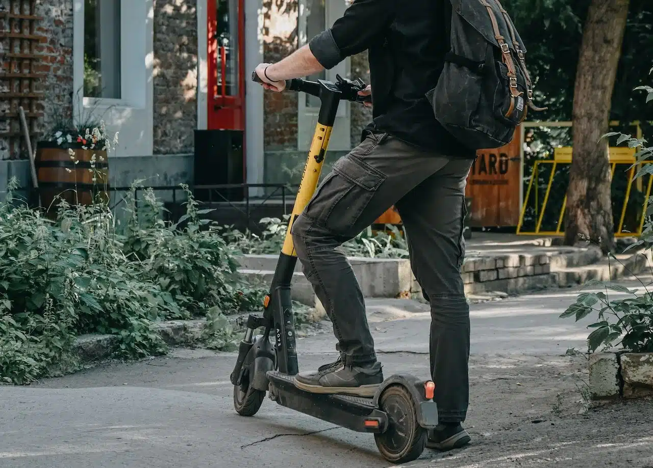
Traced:
[[[195, 130], [195, 185], [242, 184], [245, 161], [242, 130]], [[195, 189], [197, 201], [242, 201], [245, 188]]]

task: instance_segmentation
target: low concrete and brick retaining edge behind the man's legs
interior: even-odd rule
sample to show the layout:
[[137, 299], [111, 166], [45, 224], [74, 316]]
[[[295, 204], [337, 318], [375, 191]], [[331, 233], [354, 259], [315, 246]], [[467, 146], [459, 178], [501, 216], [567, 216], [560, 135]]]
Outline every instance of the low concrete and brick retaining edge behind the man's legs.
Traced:
[[[465, 292], [516, 294], [548, 287], [569, 287], [592, 279], [614, 280], [629, 272], [637, 273], [651, 262], [650, 254], [634, 252], [617, 256], [623, 265], [614, 259], [607, 261], [595, 246], [561, 247], [548, 252], [537, 249], [535, 252], [489, 255], [469, 252], [462, 265]], [[269, 284], [277, 259], [276, 255], [243, 256], [240, 272], [252, 282]], [[422, 293], [408, 259], [350, 257], [349, 263], [364, 297], [407, 298]], [[292, 288], [294, 300], [323, 310], [299, 265], [293, 274]]]

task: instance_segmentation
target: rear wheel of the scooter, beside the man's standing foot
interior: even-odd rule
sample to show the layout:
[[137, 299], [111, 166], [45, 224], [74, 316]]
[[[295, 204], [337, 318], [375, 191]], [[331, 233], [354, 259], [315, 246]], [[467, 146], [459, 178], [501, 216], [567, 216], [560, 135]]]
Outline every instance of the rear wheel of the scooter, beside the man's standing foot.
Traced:
[[388, 429], [374, 434], [379, 452], [391, 463], [407, 463], [418, 458], [426, 445], [426, 431], [419, 425], [415, 402], [403, 385], [391, 385], [379, 398], [379, 407], [388, 415]]

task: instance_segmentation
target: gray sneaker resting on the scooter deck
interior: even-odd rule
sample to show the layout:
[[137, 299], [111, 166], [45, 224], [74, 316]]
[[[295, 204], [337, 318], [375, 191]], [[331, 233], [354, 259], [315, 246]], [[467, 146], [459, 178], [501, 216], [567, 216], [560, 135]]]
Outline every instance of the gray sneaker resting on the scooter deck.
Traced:
[[338, 359], [321, 366], [317, 372], [301, 372], [295, 375], [295, 387], [311, 393], [374, 396], [383, 382], [381, 364], [345, 366]]

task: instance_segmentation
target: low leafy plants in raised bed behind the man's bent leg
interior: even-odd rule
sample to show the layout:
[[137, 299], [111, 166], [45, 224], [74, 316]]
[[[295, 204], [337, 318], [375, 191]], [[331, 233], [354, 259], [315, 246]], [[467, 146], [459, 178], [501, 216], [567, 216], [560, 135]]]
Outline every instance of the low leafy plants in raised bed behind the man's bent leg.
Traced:
[[[261, 235], [250, 231], [242, 233], [237, 229], [225, 231], [223, 235], [229, 245], [243, 254], [277, 254], [283, 246], [289, 218], [287, 215], [283, 217], [283, 221], [279, 218], [263, 218], [260, 221], [264, 226]], [[402, 231], [390, 224], [385, 227], [390, 234], [377, 231], [369, 235], [367, 231], [362, 231], [354, 239], [343, 244], [343, 251], [350, 257], [408, 258], [408, 244]]]

